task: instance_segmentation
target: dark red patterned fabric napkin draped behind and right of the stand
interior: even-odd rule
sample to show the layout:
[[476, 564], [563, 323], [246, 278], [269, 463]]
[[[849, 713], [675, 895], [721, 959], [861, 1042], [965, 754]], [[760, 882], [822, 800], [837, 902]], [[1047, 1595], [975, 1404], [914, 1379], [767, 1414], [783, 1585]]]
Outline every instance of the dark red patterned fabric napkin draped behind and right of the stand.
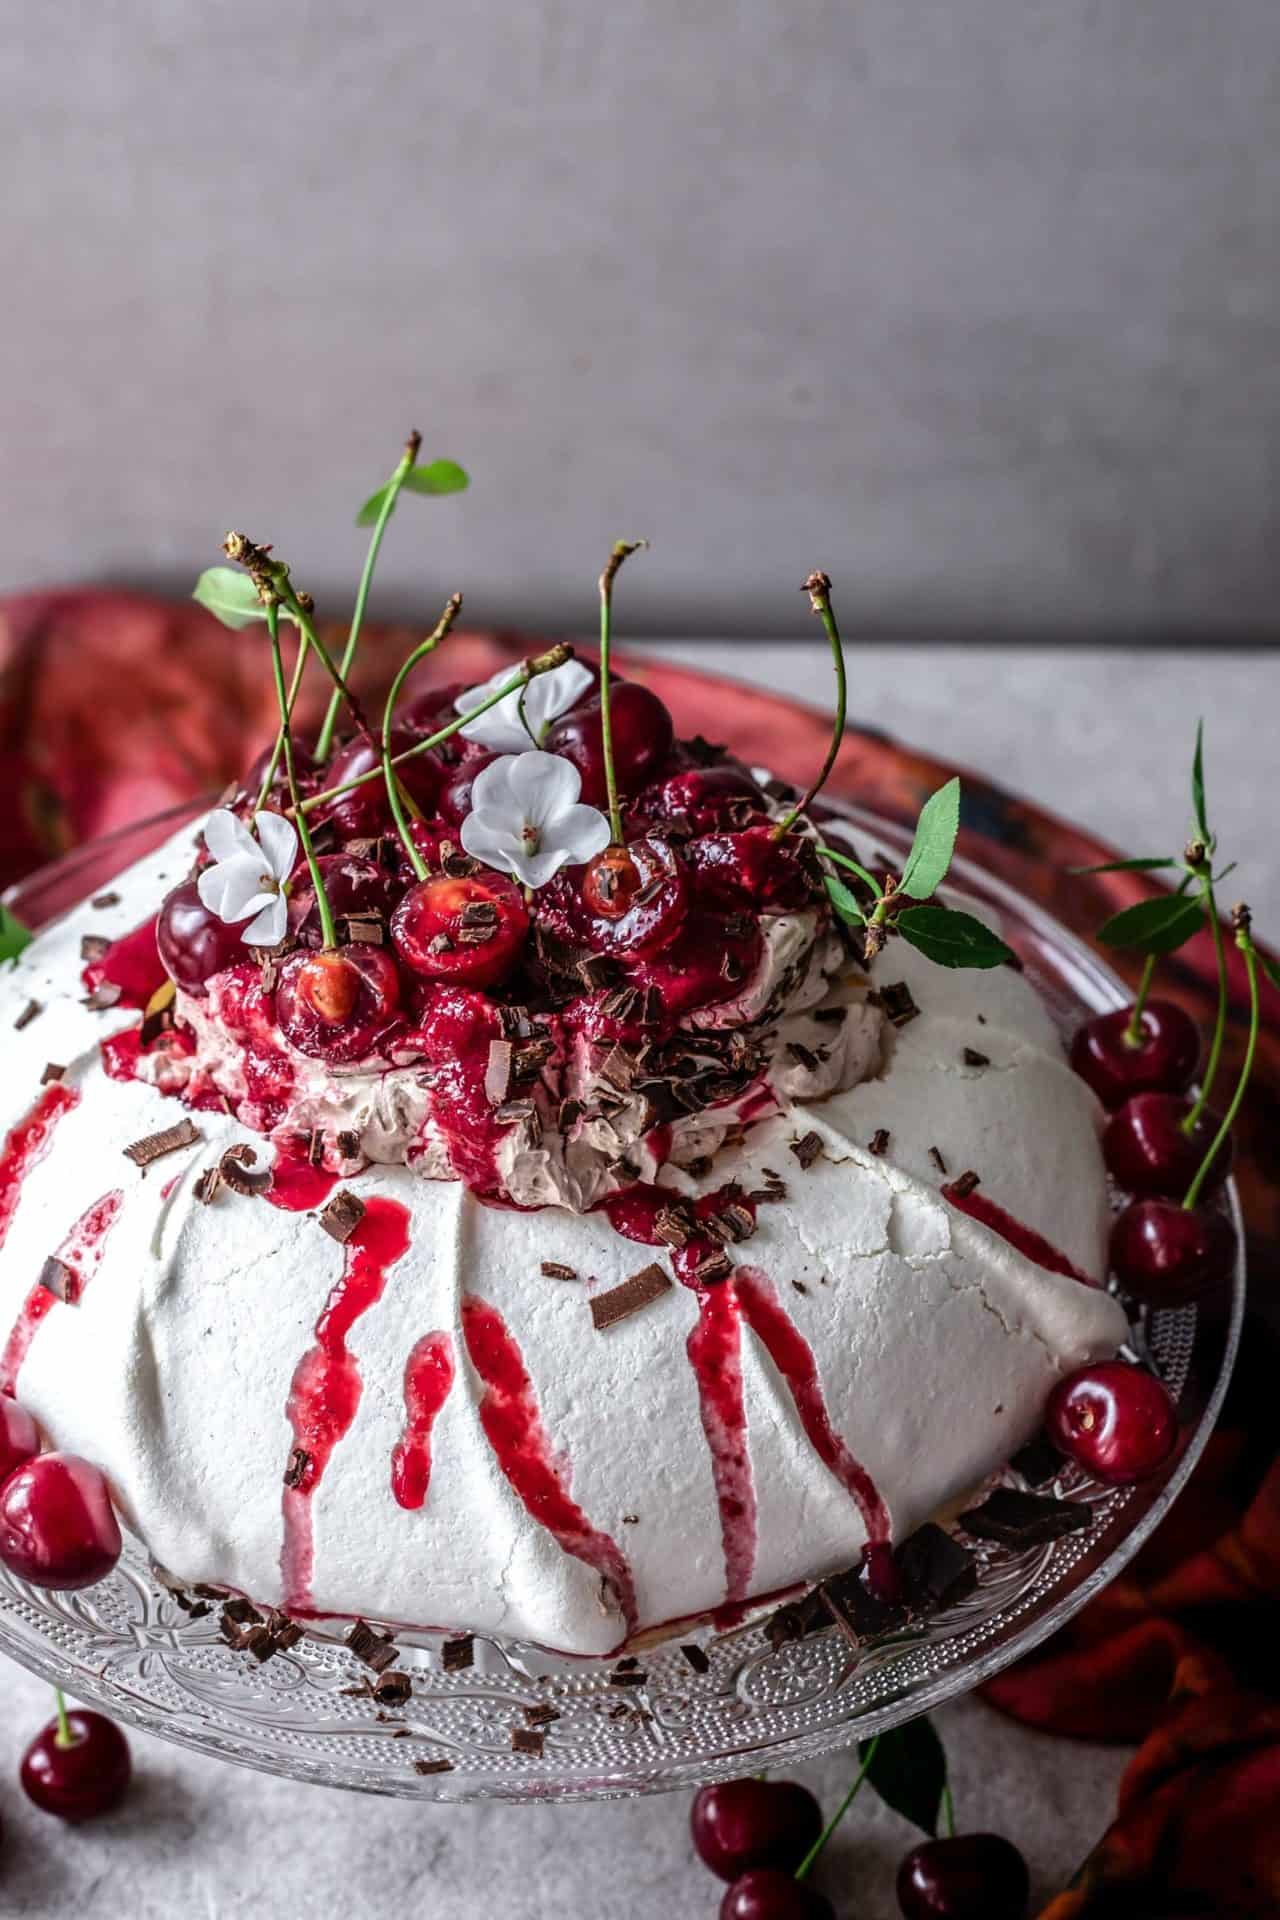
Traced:
[[[386, 685], [420, 636], [370, 628], [357, 684]], [[328, 634], [340, 643], [340, 630]], [[430, 680], [482, 680], [535, 651], [516, 636], [459, 634]], [[628, 662], [681, 733], [729, 739], [748, 760], [808, 780], [827, 720], [773, 695], [674, 666]], [[315, 680], [303, 724], [324, 707]], [[271, 739], [274, 705], [259, 628], [228, 634], [194, 605], [106, 591], [0, 603], [0, 885], [81, 839], [213, 793]], [[913, 818], [954, 768], [850, 728], [833, 789]], [[1090, 933], [1157, 891], [1142, 876], [1071, 877], [1109, 856], [1084, 833], [965, 772], [963, 851]], [[1205, 1031], [1209, 935], [1163, 970], [1161, 991]], [[1238, 1129], [1249, 1271], [1267, 1300], [1280, 1252], [1280, 998], [1268, 995], [1261, 1068]], [[1232, 975], [1226, 1073], [1238, 1066], [1244, 977]], [[1224, 1081], [1230, 1085], [1230, 1079]], [[1280, 1354], [1255, 1313], [1224, 1419], [1192, 1484], [1128, 1572], [1055, 1640], [1000, 1674], [986, 1697], [1029, 1726], [1140, 1741], [1115, 1822], [1044, 1920], [1280, 1914]]]

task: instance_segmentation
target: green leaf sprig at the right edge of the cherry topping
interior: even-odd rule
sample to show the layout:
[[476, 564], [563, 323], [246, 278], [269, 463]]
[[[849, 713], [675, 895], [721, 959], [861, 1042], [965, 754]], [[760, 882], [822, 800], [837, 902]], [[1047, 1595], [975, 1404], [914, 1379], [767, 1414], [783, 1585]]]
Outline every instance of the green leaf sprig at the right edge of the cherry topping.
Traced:
[[846, 925], [862, 927], [867, 966], [885, 948], [890, 935], [902, 939], [935, 966], [992, 968], [1013, 960], [998, 933], [954, 906], [933, 900], [950, 872], [960, 833], [960, 780], [948, 780], [931, 793], [919, 810], [912, 851], [902, 876], [887, 874], [883, 883], [839, 847], [819, 847], [823, 860], [844, 868], [862, 881], [869, 900], [860, 900], [854, 889], [827, 870], [823, 883], [827, 899]]

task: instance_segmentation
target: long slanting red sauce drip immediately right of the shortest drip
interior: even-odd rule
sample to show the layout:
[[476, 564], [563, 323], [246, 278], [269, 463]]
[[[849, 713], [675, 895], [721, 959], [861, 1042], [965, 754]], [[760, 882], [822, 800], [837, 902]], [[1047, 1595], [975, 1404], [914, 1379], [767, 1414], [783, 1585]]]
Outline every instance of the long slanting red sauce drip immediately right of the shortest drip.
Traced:
[[462, 1300], [462, 1338], [484, 1380], [480, 1425], [507, 1480], [539, 1526], [612, 1586], [628, 1634], [635, 1632], [631, 1569], [616, 1542], [599, 1532], [572, 1500], [566, 1467], [551, 1452], [520, 1348], [503, 1315], [487, 1300], [468, 1294]]

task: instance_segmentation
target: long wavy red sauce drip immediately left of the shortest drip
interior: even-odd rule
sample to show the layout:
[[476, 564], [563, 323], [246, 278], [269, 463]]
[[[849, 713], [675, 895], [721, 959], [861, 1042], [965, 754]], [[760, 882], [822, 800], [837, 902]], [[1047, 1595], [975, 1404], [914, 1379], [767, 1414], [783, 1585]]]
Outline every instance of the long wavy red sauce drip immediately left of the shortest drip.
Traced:
[[297, 1486], [284, 1488], [280, 1580], [284, 1605], [290, 1611], [305, 1611], [311, 1605], [315, 1569], [311, 1501], [334, 1448], [347, 1434], [361, 1404], [361, 1369], [347, 1348], [347, 1334], [361, 1313], [382, 1300], [388, 1269], [407, 1250], [409, 1210], [399, 1200], [370, 1200], [344, 1248], [342, 1279], [330, 1290], [315, 1323], [315, 1346], [294, 1369], [286, 1413], [294, 1448], [301, 1448], [307, 1457]]

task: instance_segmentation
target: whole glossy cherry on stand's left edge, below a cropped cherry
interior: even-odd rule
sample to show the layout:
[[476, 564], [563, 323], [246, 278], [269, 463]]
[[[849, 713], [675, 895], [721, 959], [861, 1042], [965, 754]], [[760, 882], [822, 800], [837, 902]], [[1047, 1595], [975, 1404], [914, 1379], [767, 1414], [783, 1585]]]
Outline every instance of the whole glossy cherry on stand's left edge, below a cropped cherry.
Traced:
[[79, 1453], [36, 1453], [0, 1486], [0, 1561], [19, 1580], [71, 1592], [121, 1557], [106, 1478]]

